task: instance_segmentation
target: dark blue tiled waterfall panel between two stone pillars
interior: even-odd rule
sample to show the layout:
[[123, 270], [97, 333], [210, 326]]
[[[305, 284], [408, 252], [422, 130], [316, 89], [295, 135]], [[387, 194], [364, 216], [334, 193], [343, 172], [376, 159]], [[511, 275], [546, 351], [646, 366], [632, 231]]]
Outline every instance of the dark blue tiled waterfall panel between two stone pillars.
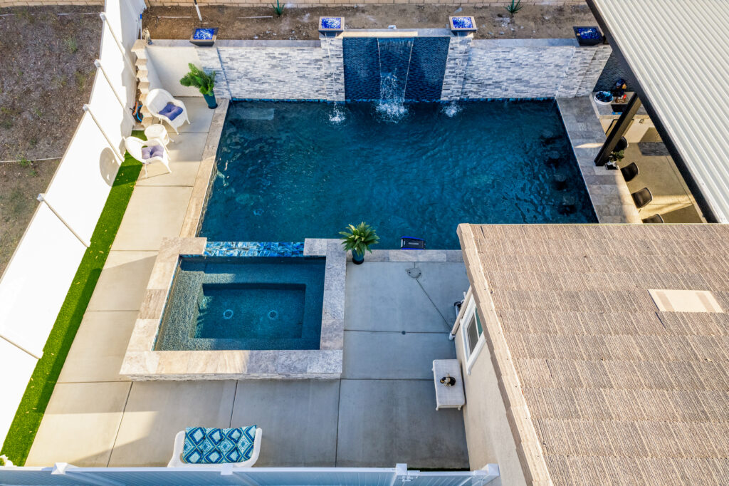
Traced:
[[351, 101], [383, 98], [383, 80], [394, 74], [394, 90], [405, 101], [438, 101], [443, 90], [448, 37], [346, 37], [344, 91]]

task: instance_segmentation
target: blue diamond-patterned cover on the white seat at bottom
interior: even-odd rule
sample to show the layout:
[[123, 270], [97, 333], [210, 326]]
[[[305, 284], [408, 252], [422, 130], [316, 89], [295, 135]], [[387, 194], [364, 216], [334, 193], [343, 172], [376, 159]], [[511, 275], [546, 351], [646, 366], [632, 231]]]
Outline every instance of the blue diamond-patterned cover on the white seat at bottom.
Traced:
[[238, 428], [188, 427], [182, 460], [190, 464], [242, 463], [251, 458], [256, 426]]

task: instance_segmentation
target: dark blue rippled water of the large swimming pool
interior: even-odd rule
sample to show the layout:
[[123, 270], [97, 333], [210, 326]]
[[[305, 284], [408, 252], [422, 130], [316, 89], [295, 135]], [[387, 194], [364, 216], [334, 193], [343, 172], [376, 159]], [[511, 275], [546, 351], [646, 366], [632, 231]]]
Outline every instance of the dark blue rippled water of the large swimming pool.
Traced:
[[379, 248], [457, 249], [459, 223], [596, 222], [554, 101], [405, 107], [394, 122], [375, 104], [233, 103], [201, 236], [301, 242], [366, 221]]

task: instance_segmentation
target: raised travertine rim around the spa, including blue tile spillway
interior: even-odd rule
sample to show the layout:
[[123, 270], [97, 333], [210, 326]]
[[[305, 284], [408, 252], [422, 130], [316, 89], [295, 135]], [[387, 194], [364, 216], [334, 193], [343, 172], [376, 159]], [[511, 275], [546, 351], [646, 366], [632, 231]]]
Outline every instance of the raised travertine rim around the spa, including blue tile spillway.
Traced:
[[[324, 257], [318, 350], [155, 350], [182, 258]], [[338, 379], [344, 348], [346, 252], [338, 239], [302, 243], [208, 242], [163, 238], [119, 373], [132, 381], [189, 379]]]

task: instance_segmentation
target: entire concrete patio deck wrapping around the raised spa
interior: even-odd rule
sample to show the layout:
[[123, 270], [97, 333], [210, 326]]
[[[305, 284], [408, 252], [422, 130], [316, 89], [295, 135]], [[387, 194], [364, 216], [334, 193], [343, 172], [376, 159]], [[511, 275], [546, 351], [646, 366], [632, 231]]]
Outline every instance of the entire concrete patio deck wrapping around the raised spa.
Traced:
[[195, 121], [172, 134], [173, 173], [141, 175], [26, 466], [165, 466], [186, 426], [257, 424], [257, 466], [468, 468], [462, 414], [436, 412], [430, 371], [456, 355], [448, 326], [468, 288], [462, 262], [349, 263], [342, 379], [120, 377], [160, 239], [182, 231], [210, 126], [202, 99], [184, 101]]

